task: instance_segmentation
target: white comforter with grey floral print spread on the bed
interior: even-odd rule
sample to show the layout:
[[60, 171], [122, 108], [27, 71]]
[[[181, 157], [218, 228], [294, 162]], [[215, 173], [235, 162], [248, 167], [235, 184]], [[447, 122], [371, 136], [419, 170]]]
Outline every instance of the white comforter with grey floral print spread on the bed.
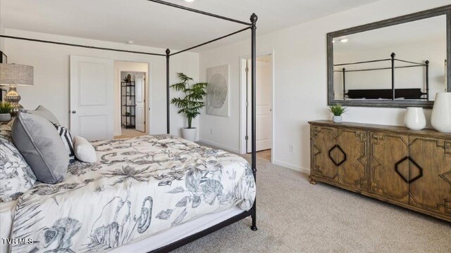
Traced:
[[13, 252], [106, 252], [238, 205], [256, 186], [247, 161], [169, 135], [93, 143], [99, 162], [70, 164], [62, 183], [18, 199]]

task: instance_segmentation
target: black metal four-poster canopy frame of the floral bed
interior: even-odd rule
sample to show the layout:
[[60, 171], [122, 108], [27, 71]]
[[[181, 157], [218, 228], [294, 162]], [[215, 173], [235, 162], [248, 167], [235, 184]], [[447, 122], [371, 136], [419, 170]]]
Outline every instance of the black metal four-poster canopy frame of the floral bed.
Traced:
[[[25, 41], [35, 41], [35, 42], [42, 42], [42, 43], [48, 43], [48, 44], [58, 44], [58, 45], [63, 45], [63, 46], [77, 46], [77, 47], [82, 47], [82, 48], [91, 48], [91, 49], [98, 49], [98, 50], [106, 50], [106, 51], [117, 51], [117, 52], [125, 52], [125, 53], [139, 53], [139, 54], [145, 54], [145, 55], [149, 55], [149, 56], [166, 56], [166, 131], [167, 134], [171, 134], [170, 131], [170, 125], [171, 125], [171, 120], [170, 120], [170, 97], [169, 97], [169, 88], [170, 88], [170, 84], [169, 84], [169, 63], [170, 63], [170, 58], [171, 56], [175, 56], [179, 53], [183, 53], [185, 51], [190, 51], [194, 48], [198, 48], [199, 46], [204, 46], [206, 44], [210, 44], [214, 41], [218, 41], [220, 39], [224, 39], [226, 37], [230, 37], [234, 34], [237, 34], [239, 32], [244, 32], [246, 30], [251, 30], [251, 57], [252, 57], [252, 68], [251, 68], [251, 77], [252, 77], [252, 119], [251, 119], [251, 124], [252, 124], [252, 155], [251, 155], [251, 160], [252, 160], [252, 173], [254, 174], [254, 179], [255, 179], [255, 183], [257, 184], [257, 144], [256, 144], [256, 117], [255, 117], [255, 112], [256, 112], [256, 58], [257, 58], [257, 49], [256, 49], [256, 32], [257, 32], [257, 15], [255, 15], [255, 13], [252, 13], [251, 17], [250, 17], [250, 22], [243, 22], [240, 20], [235, 20], [233, 18], [227, 18], [227, 17], [223, 17], [221, 15], [216, 15], [213, 13], [208, 13], [205, 11], [199, 11], [196, 10], [194, 8], [188, 8], [185, 6], [180, 6], [178, 4], [172, 4], [172, 3], [168, 3], [166, 1], [161, 1], [161, 0], [147, 0], [147, 1], [152, 1], [156, 4], [163, 4], [166, 6], [171, 6], [174, 8], [179, 8], [185, 11], [191, 11], [194, 13], [199, 13], [202, 15], [208, 15], [210, 17], [213, 18], [219, 18], [222, 20], [227, 20], [230, 22], [236, 22], [239, 23], [241, 25], [246, 25], [247, 27], [245, 27], [242, 30], [238, 30], [237, 32], [233, 32], [227, 35], [224, 35], [222, 37], [219, 37], [217, 39], [212, 39], [210, 41], [206, 41], [202, 44], [199, 44], [197, 46], [192, 46], [190, 48], [186, 48], [182, 51], [177, 51], [175, 53], [171, 53], [171, 50], [166, 49], [166, 53], [162, 54], [162, 53], [147, 53], [147, 52], [142, 52], [142, 51], [128, 51], [128, 50], [122, 50], [122, 49], [115, 49], [115, 48], [104, 48], [104, 47], [99, 47], [99, 46], [87, 46], [87, 45], [82, 45], [82, 44], [69, 44], [69, 43], [63, 43], [63, 42], [58, 42], [58, 41], [47, 41], [47, 40], [42, 40], [42, 39], [32, 39], [32, 38], [25, 38], [25, 37], [14, 37], [14, 36], [8, 36], [8, 35], [4, 35], [4, 34], [0, 34], [0, 37], [6, 38], [6, 39], [20, 39], [20, 40], [25, 40]], [[159, 249], [154, 249], [152, 250], [152, 253], [158, 252], [169, 252], [173, 249], [177, 249], [178, 247], [182, 247], [183, 245], [187, 245], [188, 243], [197, 240], [199, 238], [204, 237], [205, 235], [209, 235], [210, 233], [213, 233], [215, 231], [218, 231], [219, 229], [226, 227], [232, 223], [235, 223], [236, 221], [240, 221], [242, 219], [245, 219], [246, 217], [252, 217], [252, 226], [251, 229], [252, 231], [257, 231], [257, 197], [256, 200], [254, 201], [254, 205], [252, 206], [252, 209], [250, 209], [249, 211], [243, 211], [240, 214], [237, 214], [229, 219], [226, 219], [225, 221], [221, 221], [220, 223], [217, 223], [214, 226], [211, 226], [209, 228], [206, 228], [204, 231], [199, 231], [197, 233], [194, 233], [192, 235], [188, 235], [187, 237], [172, 242], [168, 245], [165, 245], [163, 247], [160, 247]]]

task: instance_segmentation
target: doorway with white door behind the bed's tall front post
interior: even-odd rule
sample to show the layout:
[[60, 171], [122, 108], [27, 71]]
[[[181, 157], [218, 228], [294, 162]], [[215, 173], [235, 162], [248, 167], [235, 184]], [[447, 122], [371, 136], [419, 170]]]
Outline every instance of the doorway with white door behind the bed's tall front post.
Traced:
[[[256, 144], [257, 157], [273, 159], [273, 53], [261, 53], [256, 62]], [[251, 59], [242, 58], [242, 78], [245, 86], [245, 153], [252, 152], [252, 79]]]

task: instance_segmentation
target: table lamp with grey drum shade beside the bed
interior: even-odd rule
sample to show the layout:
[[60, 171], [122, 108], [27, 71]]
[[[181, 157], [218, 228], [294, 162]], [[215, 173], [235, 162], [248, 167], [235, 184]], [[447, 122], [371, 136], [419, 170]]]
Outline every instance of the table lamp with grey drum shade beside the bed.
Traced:
[[0, 63], [0, 85], [9, 86], [5, 101], [13, 105], [12, 114], [17, 114], [22, 105], [16, 87], [33, 85], [33, 66]]

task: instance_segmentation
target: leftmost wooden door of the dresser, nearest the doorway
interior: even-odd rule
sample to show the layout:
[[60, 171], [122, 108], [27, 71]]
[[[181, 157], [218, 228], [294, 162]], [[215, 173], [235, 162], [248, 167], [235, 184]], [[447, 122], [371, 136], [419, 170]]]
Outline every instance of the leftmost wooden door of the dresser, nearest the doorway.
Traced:
[[311, 126], [311, 172], [328, 181], [338, 181], [338, 168], [329, 157], [329, 151], [337, 143], [337, 129]]

